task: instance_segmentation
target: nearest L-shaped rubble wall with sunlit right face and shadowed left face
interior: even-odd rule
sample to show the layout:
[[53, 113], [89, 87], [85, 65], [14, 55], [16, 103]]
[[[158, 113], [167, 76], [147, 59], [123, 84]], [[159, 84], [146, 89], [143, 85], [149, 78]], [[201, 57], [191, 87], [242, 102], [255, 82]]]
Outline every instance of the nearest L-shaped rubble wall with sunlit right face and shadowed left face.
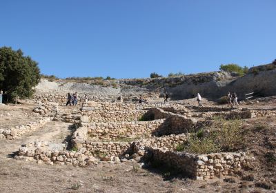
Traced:
[[193, 179], [214, 179], [215, 176], [231, 175], [242, 170], [254, 161], [252, 156], [240, 153], [215, 153], [193, 155], [185, 152], [172, 152], [166, 148], [148, 148], [150, 161], [173, 167]]

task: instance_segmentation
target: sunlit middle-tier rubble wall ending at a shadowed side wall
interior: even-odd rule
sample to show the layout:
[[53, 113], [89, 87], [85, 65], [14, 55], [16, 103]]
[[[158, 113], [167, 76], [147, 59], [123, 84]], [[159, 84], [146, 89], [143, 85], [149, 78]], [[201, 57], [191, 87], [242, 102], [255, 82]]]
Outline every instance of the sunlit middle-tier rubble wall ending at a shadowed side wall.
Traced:
[[124, 140], [137, 137], [149, 137], [152, 132], [164, 123], [164, 119], [155, 121], [90, 123], [88, 134], [91, 140]]

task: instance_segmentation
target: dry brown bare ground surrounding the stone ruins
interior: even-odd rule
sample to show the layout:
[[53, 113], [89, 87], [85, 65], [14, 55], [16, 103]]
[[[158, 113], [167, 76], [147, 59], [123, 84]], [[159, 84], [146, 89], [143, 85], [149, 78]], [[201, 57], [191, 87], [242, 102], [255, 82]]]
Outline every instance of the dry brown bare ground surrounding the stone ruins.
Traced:
[[[244, 107], [275, 108], [275, 101], [271, 99]], [[1, 116], [0, 127], [21, 125], [35, 119], [32, 108], [32, 105], [1, 105], [1, 114], [8, 112], [13, 118]], [[16, 119], [20, 116], [21, 119]], [[256, 159], [246, 171], [221, 179], [193, 181], [170, 172], [141, 169], [135, 161], [72, 167], [12, 159], [12, 152], [23, 143], [61, 142], [70, 133], [70, 123], [48, 123], [13, 141], [0, 139], [0, 192], [273, 192], [276, 190], [275, 125], [275, 117], [244, 121], [242, 148]]]

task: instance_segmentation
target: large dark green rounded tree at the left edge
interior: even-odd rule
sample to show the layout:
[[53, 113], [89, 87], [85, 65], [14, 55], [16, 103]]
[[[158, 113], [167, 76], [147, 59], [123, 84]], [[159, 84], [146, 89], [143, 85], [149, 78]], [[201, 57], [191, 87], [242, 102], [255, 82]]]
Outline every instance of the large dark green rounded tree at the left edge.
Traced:
[[0, 48], [0, 90], [6, 92], [8, 99], [14, 100], [32, 96], [34, 86], [39, 83], [40, 70], [37, 62], [23, 56], [23, 52], [12, 48]]

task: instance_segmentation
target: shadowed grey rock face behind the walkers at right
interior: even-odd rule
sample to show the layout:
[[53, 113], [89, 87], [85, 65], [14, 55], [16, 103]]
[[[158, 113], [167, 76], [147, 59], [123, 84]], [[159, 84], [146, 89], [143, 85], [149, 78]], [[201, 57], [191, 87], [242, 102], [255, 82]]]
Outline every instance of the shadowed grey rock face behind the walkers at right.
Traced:
[[195, 97], [197, 92], [205, 98], [218, 99], [228, 91], [237, 92], [238, 99], [244, 99], [244, 95], [250, 92], [272, 96], [276, 93], [276, 69], [246, 74], [232, 81], [213, 79], [198, 83], [186, 82], [166, 90], [171, 93], [172, 99], [190, 99]]

